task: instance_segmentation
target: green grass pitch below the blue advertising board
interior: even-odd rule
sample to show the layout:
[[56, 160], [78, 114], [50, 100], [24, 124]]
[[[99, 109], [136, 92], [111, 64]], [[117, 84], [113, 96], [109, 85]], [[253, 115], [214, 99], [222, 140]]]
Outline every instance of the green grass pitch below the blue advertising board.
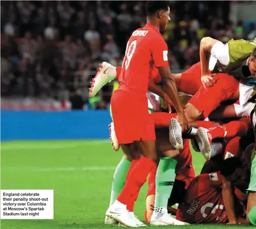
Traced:
[[[121, 157], [122, 152], [114, 152], [106, 140], [2, 143], [1, 189], [53, 189], [54, 219], [1, 220], [1, 228], [117, 228], [106, 226], [104, 218], [109, 205], [114, 168]], [[193, 152], [197, 174], [203, 163], [203, 156]], [[141, 220], [144, 219], [146, 188], [144, 185], [135, 203], [135, 214]], [[175, 226], [177, 229], [224, 227], [227, 226]]]

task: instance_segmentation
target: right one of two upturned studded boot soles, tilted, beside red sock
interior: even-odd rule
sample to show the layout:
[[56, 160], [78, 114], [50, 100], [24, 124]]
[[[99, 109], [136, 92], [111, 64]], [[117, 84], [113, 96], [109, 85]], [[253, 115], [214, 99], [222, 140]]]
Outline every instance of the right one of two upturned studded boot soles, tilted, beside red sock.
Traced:
[[210, 147], [212, 145], [212, 136], [208, 133], [208, 130], [201, 127], [198, 128], [196, 140], [201, 154], [206, 160], [209, 160], [212, 151]]

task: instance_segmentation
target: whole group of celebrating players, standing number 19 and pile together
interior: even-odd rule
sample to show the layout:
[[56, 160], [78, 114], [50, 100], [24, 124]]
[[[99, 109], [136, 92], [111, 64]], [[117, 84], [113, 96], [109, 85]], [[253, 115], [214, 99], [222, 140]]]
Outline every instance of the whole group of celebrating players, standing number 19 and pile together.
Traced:
[[[256, 225], [256, 38], [222, 44], [204, 37], [200, 62], [171, 74], [162, 36], [168, 2], [148, 1], [146, 14], [146, 26], [131, 34], [122, 67], [103, 62], [90, 88], [92, 97], [119, 81], [110, 138], [123, 158], [105, 223], [146, 226], [135, 217], [134, 203], [148, 180], [144, 217], [151, 225]], [[190, 147], [206, 159], [199, 176]]]

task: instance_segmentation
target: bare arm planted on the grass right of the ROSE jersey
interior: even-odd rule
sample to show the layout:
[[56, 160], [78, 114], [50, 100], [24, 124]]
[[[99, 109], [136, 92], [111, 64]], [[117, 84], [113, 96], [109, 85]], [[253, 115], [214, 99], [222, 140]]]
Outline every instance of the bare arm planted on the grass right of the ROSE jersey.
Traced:
[[234, 198], [232, 192], [232, 186], [229, 181], [223, 177], [222, 180], [222, 198], [228, 215], [229, 224], [237, 224], [236, 214], [234, 212]]

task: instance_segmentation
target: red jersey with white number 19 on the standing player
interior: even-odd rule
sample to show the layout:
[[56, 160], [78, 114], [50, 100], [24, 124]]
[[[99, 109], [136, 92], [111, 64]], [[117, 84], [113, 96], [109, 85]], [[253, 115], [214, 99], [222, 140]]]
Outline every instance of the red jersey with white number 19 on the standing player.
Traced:
[[153, 65], [169, 66], [168, 48], [160, 32], [147, 23], [135, 30], [127, 43], [117, 90], [146, 96]]

